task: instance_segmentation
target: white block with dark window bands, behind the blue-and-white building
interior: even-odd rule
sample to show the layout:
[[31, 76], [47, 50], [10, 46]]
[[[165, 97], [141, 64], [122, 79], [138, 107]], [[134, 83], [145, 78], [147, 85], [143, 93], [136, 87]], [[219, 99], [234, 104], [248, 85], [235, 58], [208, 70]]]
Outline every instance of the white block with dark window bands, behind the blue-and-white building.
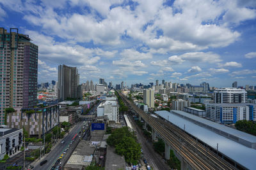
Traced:
[[247, 92], [244, 89], [216, 89], [213, 96], [215, 103], [247, 103]]

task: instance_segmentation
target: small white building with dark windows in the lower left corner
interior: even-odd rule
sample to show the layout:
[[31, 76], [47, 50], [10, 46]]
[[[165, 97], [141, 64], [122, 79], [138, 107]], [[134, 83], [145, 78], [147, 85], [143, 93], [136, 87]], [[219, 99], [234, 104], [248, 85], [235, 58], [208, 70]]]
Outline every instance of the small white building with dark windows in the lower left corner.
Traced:
[[23, 130], [0, 128], [0, 160], [4, 155], [13, 155], [22, 146]]

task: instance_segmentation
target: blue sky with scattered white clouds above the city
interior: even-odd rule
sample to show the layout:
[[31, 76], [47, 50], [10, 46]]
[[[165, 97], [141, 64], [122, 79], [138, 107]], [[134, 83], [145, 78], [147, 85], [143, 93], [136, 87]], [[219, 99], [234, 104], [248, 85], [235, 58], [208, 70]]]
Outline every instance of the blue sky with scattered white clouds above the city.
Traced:
[[38, 82], [256, 85], [255, 0], [0, 0], [0, 25], [38, 45]]

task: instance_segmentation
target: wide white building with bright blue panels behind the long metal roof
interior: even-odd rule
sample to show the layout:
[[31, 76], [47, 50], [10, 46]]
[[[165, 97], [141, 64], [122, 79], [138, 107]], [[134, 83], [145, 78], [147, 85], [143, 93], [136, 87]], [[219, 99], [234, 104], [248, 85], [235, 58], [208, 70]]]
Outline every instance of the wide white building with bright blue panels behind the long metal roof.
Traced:
[[207, 103], [208, 118], [221, 124], [235, 124], [238, 120], [256, 120], [256, 104], [251, 103]]

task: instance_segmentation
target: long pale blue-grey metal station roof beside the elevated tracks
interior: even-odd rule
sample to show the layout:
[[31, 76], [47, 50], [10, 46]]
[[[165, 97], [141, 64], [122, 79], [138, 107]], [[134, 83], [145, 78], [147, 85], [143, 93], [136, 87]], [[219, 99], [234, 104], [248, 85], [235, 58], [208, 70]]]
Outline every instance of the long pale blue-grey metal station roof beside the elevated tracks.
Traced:
[[[174, 113], [175, 112], [175, 113]], [[237, 162], [238, 164], [241, 164], [242, 166], [248, 168], [248, 169], [255, 169], [256, 167], [256, 150], [253, 148], [249, 148], [247, 146], [242, 145], [241, 143], [237, 143], [236, 141], [233, 141], [232, 139], [228, 139], [224, 136], [221, 136], [220, 134], [211, 131], [209, 127], [202, 127], [195, 123], [195, 120], [197, 121], [207, 121], [207, 125], [213, 126], [214, 128], [227, 128], [224, 131], [230, 131], [232, 132], [235, 129], [231, 129], [230, 127], [225, 127], [225, 125], [216, 124], [215, 122], [211, 122], [209, 120], [206, 120], [204, 118], [196, 117], [195, 115], [190, 115], [189, 113], [186, 113], [184, 111], [173, 111], [173, 113], [169, 111], [155, 111], [157, 115], [164, 118], [165, 120], [168, 120], [174, 125], [177, 125], [180, 127], [180, 129], [184, 129], [188, 132], [188, 134], [191, 134], [191, 136], [194, 136], [195, 138], [200, 139], [207, 145], [211, 146], [212, 148], [217, 148], [218, 143], [218, 151], [225, 155], [226, 157], [229, 157], [230, 159], [234, 160], [234, 162]], [[182, 117], [181, 115], [186, 116]], [[187, 117], [188, 116], [188, 117]], [[191, 117], [193, 116], [193, 117]], [[203, 119], [203, 120], [202, 120]], [[223, 131], [223, 129], [222, 129]], [[235, 130], [237, 131], [237, 130]], [[245, 133], [236, 132], [237, 136], [241, 136], [246, 139], [250, 139], [251, 141], [254, 141], [253, 138], [248, 137], [245, 135]], [[254, 137], [254, 136], [252, 136]]]

